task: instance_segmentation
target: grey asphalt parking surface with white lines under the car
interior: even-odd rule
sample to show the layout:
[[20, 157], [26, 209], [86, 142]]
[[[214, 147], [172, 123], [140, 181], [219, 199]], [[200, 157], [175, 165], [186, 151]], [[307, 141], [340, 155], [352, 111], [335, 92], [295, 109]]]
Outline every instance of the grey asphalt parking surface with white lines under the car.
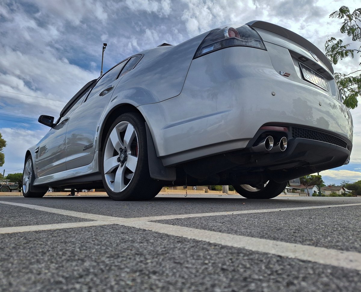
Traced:
[[361, 291], [361, 198], [0, 197], [0, 291]]

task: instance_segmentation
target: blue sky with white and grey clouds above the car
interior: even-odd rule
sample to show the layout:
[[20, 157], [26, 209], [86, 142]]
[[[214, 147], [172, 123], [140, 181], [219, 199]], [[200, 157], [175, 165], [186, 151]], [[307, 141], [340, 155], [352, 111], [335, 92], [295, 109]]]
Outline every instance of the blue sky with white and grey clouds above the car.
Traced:
[[[22, 172], [26, 149], [48, 132], [39, 115], [58, 117], [88, 81], [126, 57], [230, 23], [263, 20], [305, 37], [325, 52], [328, 37], [343, 38], [342, 21], [329, 18], [357, 1], [315, 0], [0, 0], [0, 133], [7, 141], [5, 175]], [[358, 6], [355, 6], [358, 5]], [[345, 40], [347, 41], [347, 40]], [[335, 72], [357, 70], [360, 56]], [[361, 104], [354, 122], [351, 162], [322, 171], [326, 184], [361, 180]]]

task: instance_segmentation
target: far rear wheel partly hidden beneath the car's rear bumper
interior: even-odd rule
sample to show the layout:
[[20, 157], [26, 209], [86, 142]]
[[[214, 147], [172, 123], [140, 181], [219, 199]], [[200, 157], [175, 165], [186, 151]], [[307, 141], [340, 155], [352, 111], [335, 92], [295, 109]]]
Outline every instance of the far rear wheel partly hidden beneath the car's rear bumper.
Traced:
[[286, 185], [287, 181], [276, 183], [273, 180], [269, 180], [264, 188], [257, 188], [251, 185], [233, 185], [233, 187], [237, 193], [247, 199], [271, 199], [282, 193]]

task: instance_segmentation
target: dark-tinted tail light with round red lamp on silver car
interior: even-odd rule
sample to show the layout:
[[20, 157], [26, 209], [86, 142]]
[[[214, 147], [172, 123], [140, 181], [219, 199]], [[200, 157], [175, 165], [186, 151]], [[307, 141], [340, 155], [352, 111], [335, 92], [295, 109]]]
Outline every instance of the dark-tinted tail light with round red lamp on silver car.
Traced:
[[222, 26], [210, 31], [200, 44], [194, 58], [234, 46], [253, 47], [266, 50], [260, 35], [251, 26]]

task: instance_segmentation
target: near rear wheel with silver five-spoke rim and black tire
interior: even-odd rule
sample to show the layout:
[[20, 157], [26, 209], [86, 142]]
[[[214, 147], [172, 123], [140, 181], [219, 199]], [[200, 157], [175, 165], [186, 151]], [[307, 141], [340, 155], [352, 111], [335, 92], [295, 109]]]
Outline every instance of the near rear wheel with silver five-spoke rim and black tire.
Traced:
[[116, 201], [154, 198], [162, 188], [149, 175], [147, 134], [139, 113], [124, 113], [108, 130], [101, 155], [101, 174], [108, 196]]

